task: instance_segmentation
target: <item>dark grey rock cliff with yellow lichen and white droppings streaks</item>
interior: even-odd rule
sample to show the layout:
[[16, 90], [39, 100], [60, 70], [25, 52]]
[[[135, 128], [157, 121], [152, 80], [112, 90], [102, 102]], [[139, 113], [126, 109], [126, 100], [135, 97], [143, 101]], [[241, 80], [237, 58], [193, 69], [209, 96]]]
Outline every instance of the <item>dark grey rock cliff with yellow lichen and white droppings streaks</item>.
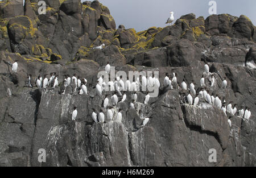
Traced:
[[[39, 15], [37, 0], [24, 7], [18, 0], [0, 2], [1, 166], [255, 166], [256, 27], [246, 16], [188, 14], [173, 26], [135, 32], [122, 25], [115, 30], [108, 7], [98, 1], [46, 3], [46, 14]], [[102, 43], [105, 49], [92, 49]], [[14, 60], [17, 73], [4, 62]], [[90, 117], [104, 100], [94, 86], [107, 62], [117, 71], [159, 71], [161, 85], [166, 72], [175, 72], [179, 84], [193, 80], [197, 89], [204, 61], [216, 78], [213, 87], [206, 79], [207, 88], [237, 108], [250, 107], [248, 122], [230, 117], [229, 127], [221, 110], [204, 101], [199, 107], [181, 104], [179, 89], [162, 86], [148, 105], [138, 92], [137, 110], [129, 107], [127, 92], [114, 109], [114, 114], [123, 109], [122, 123], [94, 123]], [[89, 95], [24, 87], [27, 73], [51, 72], [60, 82], [64, 74], [86, 78]], [[228, 86], [221, 89], [224, 77]], [[74, 106], [76, 122], [71, 121]], [[138, 109], [152, 117], [144, 127]], [[40, 148], [46, 150], [46, 163], [38, 162]], [[216, 163], [208, 161], [211, 148]]]

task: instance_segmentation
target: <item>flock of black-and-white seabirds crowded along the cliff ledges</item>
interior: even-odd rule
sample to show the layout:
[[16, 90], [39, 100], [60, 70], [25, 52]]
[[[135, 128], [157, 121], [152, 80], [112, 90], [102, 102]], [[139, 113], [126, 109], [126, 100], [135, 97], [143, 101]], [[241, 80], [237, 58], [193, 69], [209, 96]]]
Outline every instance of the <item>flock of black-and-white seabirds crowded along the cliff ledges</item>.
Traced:
[[[100, 45], [96, 49], [101, 49], [102, 45]], [[5, 61], [5, 60], [4, 60]], [[18, 61], [15, 60], [15, 63], [11, 64], [9, 61], [5, 61], [6, 64], [11, 65], [12, 71], [17, 72], [18, 69]], [[110, 73], [110, 64], [108, 63], [105, 66], [105, 72]], [[56, 74], [56, 72], [50, 73], [50, 77], [47, 78], [48, 74], [44, 75], [44, 79], [41, 76], [36, 77], [35, 79], [35, 85], [39, 89], [54, 89], [56, 86], [59, 85], [59, 80], [57, 77], [59, 75]], [[205, 76], [209, 80], [209, 86], [213, 87], [215, 79], [214, 79], [214, 74], [209, 72], [209, 65], [206, 63], [204, 65], [204, 73], [202, 75], [202, 78], [200, 80], [200, 88], [197, 88], [197, 92], [195, 89], [195, 85], [193, 84], [194, 81], [189, 85], [189, 88], [187, 84], [185, 83], [185, 80], [183, 79], [183, 82], [181, 82], [181, 85], [177, 83], [177, 73], [173, 73], [172, 76], [169, 73], [166, 73], [166, 77], [164, 77], [163, 81], [163, 88], [166, 90], [172, 90], [172, 89], [178, 89], [180, 93], [180, 102], [181, 104], [188, 104], [192, 105], [195, 107], [199, 106], [199, 101], [201, 101], [203, 104], [207, 103], [209, 105], [213, 105], [217, 107], [218, 109], [222, 110], [226, 116], [234, 116], [236, 113], [238, 117], [243, 118], [244, 121], [248, 121], [250, 116], [251, 116], [251, 111], [249, 110], [249, 107], [245, 107], [245, 110], [243, 107], [240, 108], [237, 112], [237, 105], [235, 104], [234, 107], [232, 108], [233, 102], [230, 101], [229, 104], [226, 106], [226, 102], [221, 101], [221, 97], [218, 96], [218, 94], [210, 95], [209, 94], [209, 89], [207, 89], [206, 82], [205, 82]], [[27, 80], [27, 87], [33, 87], [32, 82], [31, 82], [31, 74], [28, 74], [28, 80]], [[65, 94], [65, 90], [68, 87], [71, 87], [72, 93], [78, 92], [78, 94], [88, 94], [88, 90], [86, 87], [87, 80], [85, 78], [80, 78], [76, 77], [76, 74], [73, 74], [72, 78], [67, 74], [64, 76], [64, 87], [60, 87], [60, 94]], [[226, 86], [228, 85], [228, 82], [226, 81], [226, 78], [224, 77], [224, 80], [222, 81], [221, 89], [226, 89]], [[141, 78], [136, 78], [134, 77], [134, 81], [129, 81], [126, 80], [125, 82], [123, 81], [122, 76], [118, 76], [115, 78], [115, 81], [109, 80], [108, 84], [104, 81], [104, 75], [102, 75], [100, 78], [97, 80], [96, 84], [96, 93], [98, 96], [103, 96], [102, 92], [106, 90], [106, 88], [110, 88], [110, 91], [114, 91], [114, 94], [110, 98], [110, 101], [108, 97], [105, 97], [105, 100], [103, 102], [103, 107], [104, 109], [108, 109], [106, 111], [106, 115], [108, 119], [112, 120], [114, 117], [112, 108], [117, 107], [118, 101], [119, 102], [124, 102], [126, 100], [126, 93], [125, 91], [132, 91], [133, 94], [131, 96], [132, 102], [130, 102], [130, 107], [135, 109], [134, 104], [137, 102], [137, 91], [139, 91], [139, 87], [142, 86], [147, 86], [148, 87], [153, 87], [156, 86], [157, 88], [160, 88], [160, 82], [158, 80], [158, 77], [146, 76], [142, 75]], [[125, 90], [124, 92], [122, 92]], [[119, 99], [118, 99], [119, 97]], [[144, 97], [144, 105], [148, 104], [148, 101], [150, 100], [150, 93], [146, 91], [146, 96]], [[110, 106], [110, 102], [112, 102], [113, 106]], [[105, 120], [105, 115], [104, 111], [101, 109], [100, 113], [96, 113], [95, 109], [92, 109], [92, 119], [94, 122], [101, 122], [104, 123]], [[118, 114], [116, 115], [116, 121], [121, 122], [122, 121], [122, 109], [118, 110]], [[98, 117], [97, 117], [98, 115]], [[142, 126], [145, 126], [146, 123], [149, 121], [150, 117], [143, 117], [142, 112], [140, 110], [139, 115], [141, 119], [143, 120]], [[72, 121], [75, 121], [77, 117], [77, 107], [74, 107], [72, 111]], [[230, 119], [228, 119], [229, 126], [232, 126], [232, 122]]]

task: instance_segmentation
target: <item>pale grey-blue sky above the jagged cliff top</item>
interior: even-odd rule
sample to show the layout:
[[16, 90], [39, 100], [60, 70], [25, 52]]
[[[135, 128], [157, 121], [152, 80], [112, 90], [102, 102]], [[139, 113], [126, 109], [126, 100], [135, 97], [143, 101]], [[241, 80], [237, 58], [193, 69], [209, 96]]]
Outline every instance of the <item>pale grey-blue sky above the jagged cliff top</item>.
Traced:
[[[84, 1], [84, 0], [82, 0]], [[194, 13], [196, 18], [209, 16], [210, 0], [100, 0], [107, 6], [117, 27], [143, 31], [150, 27], [165, 27], [170, 11], [175, 21], [181, 15]], [[256, 0], [216, 0], [217, 14], [246, 15], [256, 26]]]

